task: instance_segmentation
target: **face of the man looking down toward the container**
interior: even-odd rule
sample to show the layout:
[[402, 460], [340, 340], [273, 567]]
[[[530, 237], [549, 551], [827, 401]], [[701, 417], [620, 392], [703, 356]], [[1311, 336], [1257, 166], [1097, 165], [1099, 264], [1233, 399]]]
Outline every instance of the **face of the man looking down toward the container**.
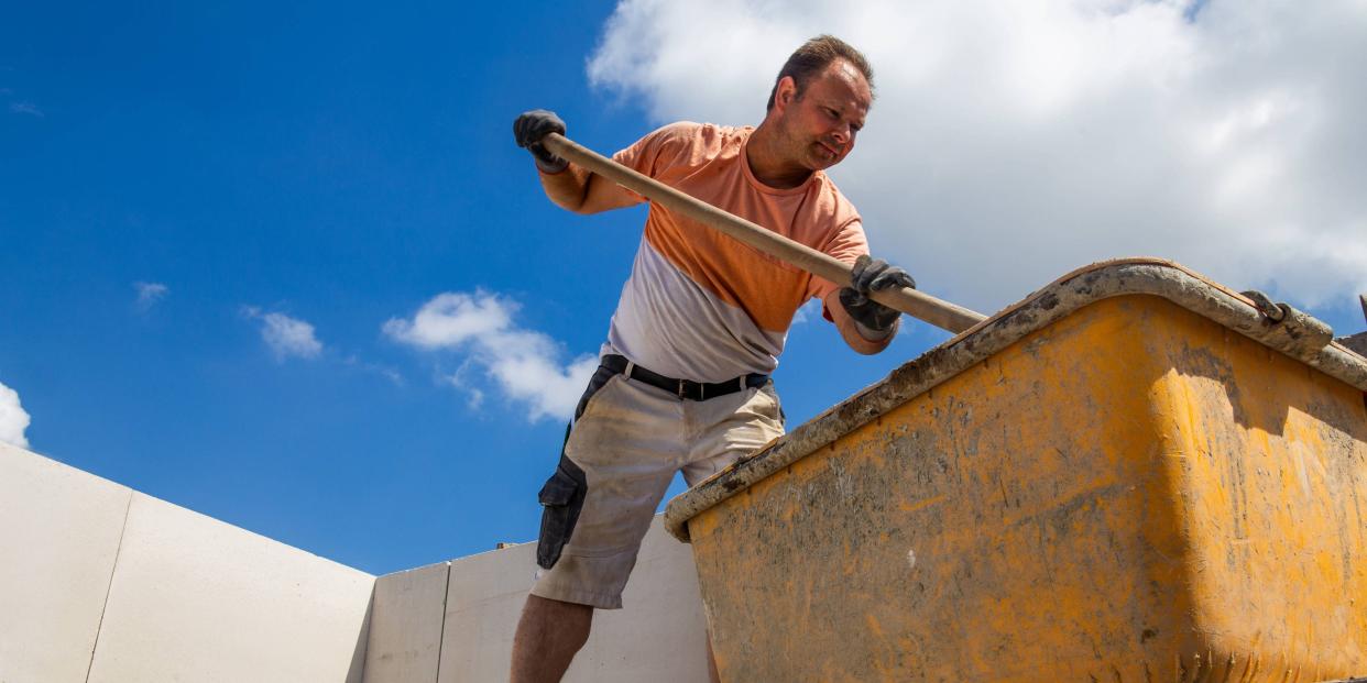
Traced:
[[839, 164], [854, 149], [872, 102], [864, 74], [842, 59], [833, 61], [800, 97], [782, 102], [778, 123], [790, 160], [811, 171]]

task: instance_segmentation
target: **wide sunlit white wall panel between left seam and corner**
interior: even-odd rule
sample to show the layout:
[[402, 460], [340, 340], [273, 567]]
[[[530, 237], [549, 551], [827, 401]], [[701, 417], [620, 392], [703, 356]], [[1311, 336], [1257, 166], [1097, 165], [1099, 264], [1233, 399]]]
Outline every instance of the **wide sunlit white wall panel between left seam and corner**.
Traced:
[[373, 583], [135, 493], [89, 680], [354, 679]]

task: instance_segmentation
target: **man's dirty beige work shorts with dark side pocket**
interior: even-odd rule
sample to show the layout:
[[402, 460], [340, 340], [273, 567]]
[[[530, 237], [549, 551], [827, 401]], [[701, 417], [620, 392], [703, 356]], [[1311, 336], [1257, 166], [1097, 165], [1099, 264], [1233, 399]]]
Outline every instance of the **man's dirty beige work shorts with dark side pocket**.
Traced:
[[692, 486], [783, 434], [772, 382], [684, 400], [599, 367], [576, 413], [540, 494], [537, 561], [552, 567], [537, 570], [532, 594], [599, 609], [622, 608], [641, 538], [675, 473]]

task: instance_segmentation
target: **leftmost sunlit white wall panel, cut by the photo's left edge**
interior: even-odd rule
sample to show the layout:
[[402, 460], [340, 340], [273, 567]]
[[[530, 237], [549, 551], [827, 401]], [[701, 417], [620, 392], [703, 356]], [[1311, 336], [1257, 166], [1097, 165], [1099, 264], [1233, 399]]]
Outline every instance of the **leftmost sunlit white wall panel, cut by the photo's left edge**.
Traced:
[[0, 444], [0, 682], [83, 682], [133, 492]]

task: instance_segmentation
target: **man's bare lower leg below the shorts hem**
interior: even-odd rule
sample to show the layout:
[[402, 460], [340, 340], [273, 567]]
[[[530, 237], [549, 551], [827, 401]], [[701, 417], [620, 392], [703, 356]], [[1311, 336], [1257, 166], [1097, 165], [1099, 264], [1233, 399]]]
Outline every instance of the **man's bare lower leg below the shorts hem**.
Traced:
[[513, 637], [513, 683], [559, 683], [593, 626], [593, 608], [528, 596]]

